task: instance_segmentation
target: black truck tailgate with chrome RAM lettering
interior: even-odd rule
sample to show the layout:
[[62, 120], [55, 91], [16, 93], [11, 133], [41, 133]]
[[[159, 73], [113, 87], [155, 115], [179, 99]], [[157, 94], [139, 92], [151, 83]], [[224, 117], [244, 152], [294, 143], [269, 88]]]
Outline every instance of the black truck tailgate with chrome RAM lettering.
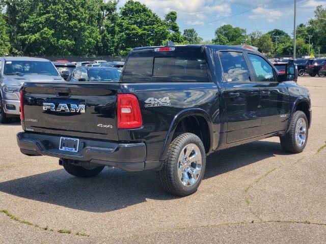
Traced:
[[80, 82], [25, 84], [25, 130], [117, 141], [118, 86]]

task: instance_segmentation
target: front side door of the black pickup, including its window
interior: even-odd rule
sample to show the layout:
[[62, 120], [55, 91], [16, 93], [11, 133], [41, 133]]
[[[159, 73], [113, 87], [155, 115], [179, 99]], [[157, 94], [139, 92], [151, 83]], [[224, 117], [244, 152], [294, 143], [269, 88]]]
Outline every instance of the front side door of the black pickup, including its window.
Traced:
[[286, 130], [290, 114], [290, 98], [285, 83], [277, 81], [275, 69], [260, 55], [247, 53], [253, 69], [253, 82], [260, 88], [259, 135]]

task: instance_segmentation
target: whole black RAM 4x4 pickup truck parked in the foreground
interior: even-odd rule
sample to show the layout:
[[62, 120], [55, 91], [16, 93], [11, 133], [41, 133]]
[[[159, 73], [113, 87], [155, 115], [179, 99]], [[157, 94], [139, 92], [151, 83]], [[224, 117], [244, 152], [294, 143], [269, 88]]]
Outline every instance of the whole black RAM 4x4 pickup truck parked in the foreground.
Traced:
[[311, 103], [295, 67], [280, 74], [259, 52], [230, 46], [135, 48], [120, 81], [26, 83], [17, 142], [75, 176], [152, 169], [165, 191], [189, 195], [213, 151], [272, 136], [303, 151]]

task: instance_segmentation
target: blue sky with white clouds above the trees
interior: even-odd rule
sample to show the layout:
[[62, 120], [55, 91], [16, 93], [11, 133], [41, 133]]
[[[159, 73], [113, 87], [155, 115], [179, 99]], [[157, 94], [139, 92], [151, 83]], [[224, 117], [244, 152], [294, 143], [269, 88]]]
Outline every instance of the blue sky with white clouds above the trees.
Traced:
[[[120, 0], [122, 7], [127, 0]], [[193, 27], [204, 40], [214, 37], [216, 28], [224, 24], [231, 24], [241, 28], [247, 28], [247, 32], [261, 31], [266, 33], [274, 28], [293, 32], [294, 0], [138, 0], [146, 4], [161, 18], [174, 10], [178, 13], [180, 30]], [[326, 0], [297, 0], [297, 24], [306, 23], [314, 16], [314, 10], [318, 5], [326, 6]], [[267, 5], [264, 5], [271, 2]], [[262, 7], [256, 8], [258, 6]], [[254, 10], [248, 11], [250, 9]], [[243, 11], [246, 13], [228, 17]], [[222, 19], [213, 23], [210, 21]], [[207, 24], [204, 24], [207, 23]]]

